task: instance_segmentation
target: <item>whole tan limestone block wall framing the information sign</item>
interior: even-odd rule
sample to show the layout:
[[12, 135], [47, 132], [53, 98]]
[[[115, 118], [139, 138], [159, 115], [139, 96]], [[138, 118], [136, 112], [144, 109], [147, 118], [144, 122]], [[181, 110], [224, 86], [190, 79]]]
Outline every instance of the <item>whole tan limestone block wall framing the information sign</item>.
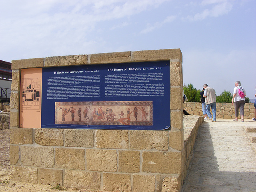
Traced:
[[[22, 68], [170, 60], [169, 131], [19, 128]], [[12, 61], [12, 179], [108, 191], [180, 191], [185, 175], [180, 49]]]

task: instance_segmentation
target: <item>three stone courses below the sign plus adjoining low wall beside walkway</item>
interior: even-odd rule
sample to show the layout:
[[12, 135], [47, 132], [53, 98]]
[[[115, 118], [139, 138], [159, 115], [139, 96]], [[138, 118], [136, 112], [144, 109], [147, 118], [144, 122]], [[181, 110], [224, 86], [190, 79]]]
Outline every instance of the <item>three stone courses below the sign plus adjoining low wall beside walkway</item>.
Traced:
[[178, 142], [172, 131], [11, 128], [11, 178], [94, 190], [178, 192], [203, 117], [184, 120], [181, 152], [171, 147]]

